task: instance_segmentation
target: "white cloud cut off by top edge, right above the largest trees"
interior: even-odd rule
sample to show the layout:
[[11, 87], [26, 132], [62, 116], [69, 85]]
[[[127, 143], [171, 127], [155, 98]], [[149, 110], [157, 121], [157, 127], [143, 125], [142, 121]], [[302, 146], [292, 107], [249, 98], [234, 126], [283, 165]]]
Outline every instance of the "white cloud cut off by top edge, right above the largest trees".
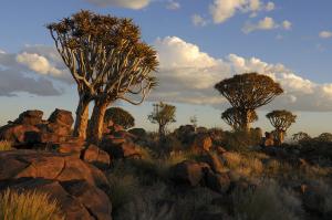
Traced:
[[96, 4], [98, 7], [121, 7], [121, 8], [128, 8], [128, 9], [143, 9], [151, 3], [151, 0], [85, 0], [90, 3]]

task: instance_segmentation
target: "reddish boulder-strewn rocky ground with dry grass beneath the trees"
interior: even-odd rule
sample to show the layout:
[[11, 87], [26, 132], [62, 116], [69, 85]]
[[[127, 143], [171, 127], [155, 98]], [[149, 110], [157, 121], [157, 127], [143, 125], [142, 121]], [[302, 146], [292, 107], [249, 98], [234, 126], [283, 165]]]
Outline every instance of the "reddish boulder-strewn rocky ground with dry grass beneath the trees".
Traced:
[[1, 127], [0, 193], [46, 192], [66, 219], [332, 219], [332, 143], [260, 146], [259, 129], [186, 125], [162, 140], [116, 127], [95, 146], [72, 124], [27, 111]]

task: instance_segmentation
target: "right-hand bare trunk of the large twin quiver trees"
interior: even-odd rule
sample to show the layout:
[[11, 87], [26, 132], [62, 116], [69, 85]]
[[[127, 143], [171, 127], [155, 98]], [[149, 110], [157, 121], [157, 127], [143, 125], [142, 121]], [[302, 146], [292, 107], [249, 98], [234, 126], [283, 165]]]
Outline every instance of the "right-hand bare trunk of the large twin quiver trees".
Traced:
[[95, 101], [95, 105], [93, 107], [91, 121], [90, 121], [90, 129], [89, 129], [89, 142], [93, 144], [98, 144], [103, 136], [104, 128], [104, 117], [107, 106], [111, 102], [105, 101]]

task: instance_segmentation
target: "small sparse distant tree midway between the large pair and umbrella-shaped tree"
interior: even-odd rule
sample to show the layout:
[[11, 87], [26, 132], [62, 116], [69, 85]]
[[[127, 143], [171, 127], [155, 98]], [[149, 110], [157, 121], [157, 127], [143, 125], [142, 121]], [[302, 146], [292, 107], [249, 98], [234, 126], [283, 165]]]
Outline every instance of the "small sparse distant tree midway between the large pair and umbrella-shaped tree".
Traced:
[[159, 125], [159, 137], [165, 137], [166, 127], [170, 123], [175, 123], [176, 107], [166, 103], [154, 104], [154, 111], [147, 116], [148, 121], [153, 124]]

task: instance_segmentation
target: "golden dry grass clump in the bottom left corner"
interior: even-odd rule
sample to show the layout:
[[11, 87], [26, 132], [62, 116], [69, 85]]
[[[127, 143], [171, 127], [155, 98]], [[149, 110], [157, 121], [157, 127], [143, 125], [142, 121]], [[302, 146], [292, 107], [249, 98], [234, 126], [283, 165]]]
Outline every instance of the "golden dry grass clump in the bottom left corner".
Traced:
[[0, 196], [1, 220], [64, 220], [55, 200], [46, 193], [27, 191], [18, 193], [10, 189]]

